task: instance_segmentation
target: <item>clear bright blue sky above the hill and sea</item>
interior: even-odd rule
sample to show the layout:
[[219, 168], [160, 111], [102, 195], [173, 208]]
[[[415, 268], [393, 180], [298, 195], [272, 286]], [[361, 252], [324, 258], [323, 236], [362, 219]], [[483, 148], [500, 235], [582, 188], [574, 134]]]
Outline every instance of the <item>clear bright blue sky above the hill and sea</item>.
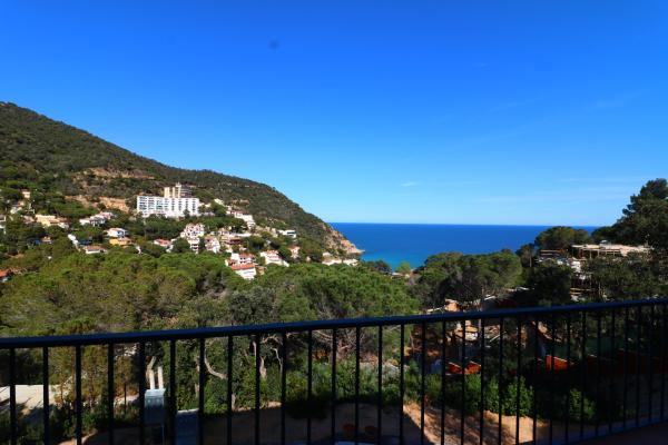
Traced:
[[459, 3], [4, 0], [0, 100], [330, 221], [610, 224], [668, 175], [666, 6]]

